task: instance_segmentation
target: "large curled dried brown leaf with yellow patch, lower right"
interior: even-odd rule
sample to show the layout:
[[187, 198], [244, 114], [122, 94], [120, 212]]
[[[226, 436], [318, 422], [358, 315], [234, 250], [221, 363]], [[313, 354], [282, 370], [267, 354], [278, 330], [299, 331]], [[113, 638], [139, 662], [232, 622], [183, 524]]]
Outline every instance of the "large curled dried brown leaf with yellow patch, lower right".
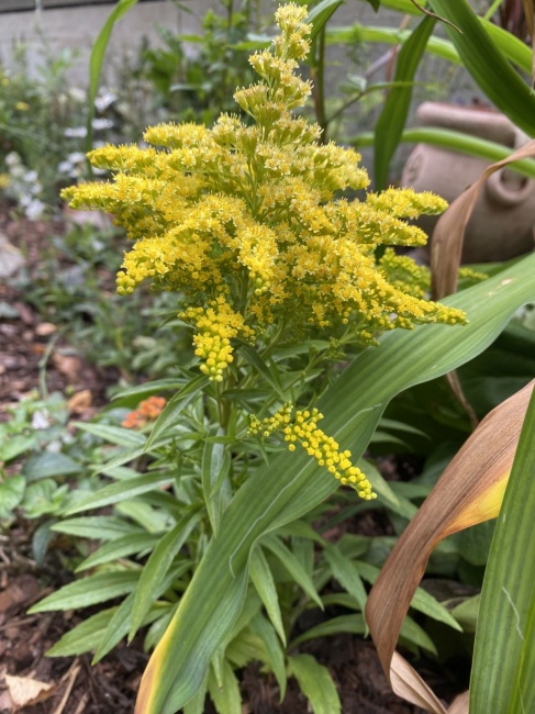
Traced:
[[[446, 468], [384, 564], [366, 621], [392, 689], [433, 714], [446, 711], [395, 652], [401, 624], [436, 544], [498, 515], [535, 380], [497, 406]], [[461, 702], [455, 712], [462, 712]]]

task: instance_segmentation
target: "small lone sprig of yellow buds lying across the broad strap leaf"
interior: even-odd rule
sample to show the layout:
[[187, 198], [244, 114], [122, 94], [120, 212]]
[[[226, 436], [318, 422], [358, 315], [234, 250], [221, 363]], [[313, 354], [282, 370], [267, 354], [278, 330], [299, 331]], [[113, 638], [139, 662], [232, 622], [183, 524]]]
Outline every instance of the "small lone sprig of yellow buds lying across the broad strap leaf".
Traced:
[[296, 444], [300, 444], [309, 456], [315, 458], [319, 466], [325, 467], [342, 484], [354, 488], [366, 501], [376, 499], [371, 483], [359, 468], [353, 466], [352, 453], [341, 451], [338, 443], [319, 428], [317, 422], [323, 419], [323, 414], [317, 409], [298, 410], [292, 419], [292, 411], [291, 404], [285, 404], [272, 416], [261, 421], [250, 415], [247, 434], [267, 438], [275, 432], [281, 432], [290, 451], [294, 451]]

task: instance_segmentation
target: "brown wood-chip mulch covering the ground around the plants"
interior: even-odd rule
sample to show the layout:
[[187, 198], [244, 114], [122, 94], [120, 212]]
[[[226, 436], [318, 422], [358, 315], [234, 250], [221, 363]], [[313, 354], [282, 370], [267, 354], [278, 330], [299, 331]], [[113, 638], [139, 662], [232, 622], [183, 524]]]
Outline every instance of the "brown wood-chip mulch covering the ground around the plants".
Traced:
[[[38, 264], [49, 226], [13, 220], [0, 207], [0, 231], [14, 245], [23, 242], [31, 271], [32, 266]], [[82, 400], [82, 409], [90, 415], [94, 405], [103, 403], [105, 388], [116, 376], [92, 366], [65, 341], [58, 339], [48, 350], [54, 325], [43, 323], [37, 312], [24, 302], [24, 295], [9, 285], [0, 286], [2, 301], [13, 305], [18, 316], [0, 323], [0, 419], [7, 419], [2, 415], [5, 404], [37, 388], [40, 370], [51, 392], [69, 390], [69, 393], [86, 392], [87, 395], [86, 390], [89, 390], [90, 399]], [[49, 356], [44, 365], [47, 352]], [[388, 522], [380, 514], [357, 517], [350, 526], [352, 532], [366, 535], [388, 531]], [[80, 618], [71, 612], [26, 614], [45, 593], [71, 579], [54, 550], [44, 567], [36, 566], [30, 547], [32, 527], [34, 525], [29, 523], [15, 523], [0, 534], [0, 712], [130, 714], [147, 661], [138, 643], [116, 648], [94, 667], [90, 666], [88, 656], [45, 657], [52, 644]], [[301, 651], [314, 655], [328, 667], [341, 693], [344, 714], [417, 714], [422, 711], [391, 692], [369, 642], [353, 635], [336, 636], [308, 643]], [[47, 689], [36, 693], [36, 703], [14, 707], [8, 690], [13, 694], [20, 687], [24, 698], [34, 681], [45, 683]], [[257, 666], [247, 667], [241, 673], [241, 682], [245, 701], [243, 714], [305, 714], [310, 711], [294, 680], [289, 681], [283, 703], [279, 702], [275, 680], [260, 674]], [[210, 703], [205, 711], [213, 712]]]

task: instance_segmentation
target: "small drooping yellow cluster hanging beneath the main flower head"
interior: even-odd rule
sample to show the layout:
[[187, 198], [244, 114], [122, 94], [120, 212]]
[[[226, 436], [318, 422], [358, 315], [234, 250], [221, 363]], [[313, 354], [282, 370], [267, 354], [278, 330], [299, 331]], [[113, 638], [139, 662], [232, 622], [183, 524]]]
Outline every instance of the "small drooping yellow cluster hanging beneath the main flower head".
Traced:
[[179, 317], [196, 326], [193, 344], [197, 357], [202, 360], [201, 372], [211, 381], [223, 381], [224, 370], [234, 360], [231, 339], [238, 335], [250, 339], [254, 334], [250, 327], [244, 324], [239, 313], [231, 310], [223, 297], [208, 309], [188, 308]]

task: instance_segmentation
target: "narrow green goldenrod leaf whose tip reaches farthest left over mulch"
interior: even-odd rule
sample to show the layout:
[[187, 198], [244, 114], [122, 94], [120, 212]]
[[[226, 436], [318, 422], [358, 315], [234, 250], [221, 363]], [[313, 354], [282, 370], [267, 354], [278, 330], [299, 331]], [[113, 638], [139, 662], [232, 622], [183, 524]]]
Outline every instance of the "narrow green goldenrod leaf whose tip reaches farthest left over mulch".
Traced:
[[136, 589], [138, 580], [140, 570], [99, 572], [59, 588], [52, 595], [33, 605], [29, 612], [33, 614], [51, 610], [89, 607], [132, 592]]

